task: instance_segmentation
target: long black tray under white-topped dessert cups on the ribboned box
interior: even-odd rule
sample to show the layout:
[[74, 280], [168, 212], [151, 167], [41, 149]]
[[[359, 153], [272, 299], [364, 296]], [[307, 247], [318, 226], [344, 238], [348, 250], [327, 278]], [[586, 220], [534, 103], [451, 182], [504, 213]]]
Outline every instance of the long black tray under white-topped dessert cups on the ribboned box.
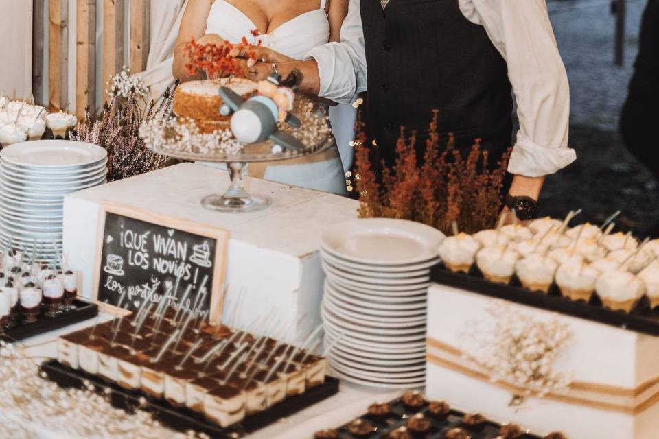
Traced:
[[443, 265], [437, 265], [432, 268], [430, 273], [432, 281], [450, 287], [466, 289], [485, 296], [510, 300], [522, 305], [609, 324], [638, 333], [659, 336], [659, 311], [650, 308], [649, 300], [645, 296], [631, 312], [627, 313], [604, 307], [597, 294], [593, 294], [589, 302], [563, 297], [557, 285], [552, 285], [549, 294], [544, 294], [525, 289], [514, 277], [510, 285], [492, 283], [483, 278], [483, 274], [478, 268], [472, 268], [469, 274], [465, 274], [454, 273], [448, 268], [444, 268]]

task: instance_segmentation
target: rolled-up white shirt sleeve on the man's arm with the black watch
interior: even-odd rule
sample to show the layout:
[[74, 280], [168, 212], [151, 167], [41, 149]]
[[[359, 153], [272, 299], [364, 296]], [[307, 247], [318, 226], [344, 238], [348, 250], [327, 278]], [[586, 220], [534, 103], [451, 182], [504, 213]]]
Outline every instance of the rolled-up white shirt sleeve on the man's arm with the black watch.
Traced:
[[544, 0], [460, 0], [470, 21], [485, 27], [508, 64], [520, 130], [511, 174], [554, 174], [575, 161], [568, 148], [570, 90]]

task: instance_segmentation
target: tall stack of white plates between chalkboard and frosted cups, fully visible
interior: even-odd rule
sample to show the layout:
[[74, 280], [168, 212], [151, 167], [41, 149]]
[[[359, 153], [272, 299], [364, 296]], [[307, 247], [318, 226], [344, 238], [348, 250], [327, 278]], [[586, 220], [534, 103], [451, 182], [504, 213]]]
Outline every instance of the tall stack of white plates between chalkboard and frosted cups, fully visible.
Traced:
[[424, 385], [430, 268], [443, 239], [399, 219], [357, 219], [323, 235], [322, 316], [336, 375], [377, 387]]

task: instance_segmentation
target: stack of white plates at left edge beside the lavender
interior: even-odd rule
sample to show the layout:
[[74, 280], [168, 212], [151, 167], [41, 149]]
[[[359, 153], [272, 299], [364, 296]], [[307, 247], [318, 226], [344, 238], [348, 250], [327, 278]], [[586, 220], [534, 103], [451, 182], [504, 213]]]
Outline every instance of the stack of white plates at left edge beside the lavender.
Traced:
[[[65, 195], [106, 181], [107, 152], [91, 143], [30, 141], [0, 152], [0, 246], [51, 259], [62, 248]], [[30, 254], [32, 256], [32, 254]]]

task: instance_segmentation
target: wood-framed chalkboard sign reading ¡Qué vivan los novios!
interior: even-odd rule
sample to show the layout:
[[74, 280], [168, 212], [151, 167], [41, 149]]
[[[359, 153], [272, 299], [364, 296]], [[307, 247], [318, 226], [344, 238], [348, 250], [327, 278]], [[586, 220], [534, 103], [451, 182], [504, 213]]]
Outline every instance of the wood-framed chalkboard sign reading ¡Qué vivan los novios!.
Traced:
[[218, 322], [222, 316], [227, 230], [102, 203], [97, 302], [128, 311], [167, 305]]

